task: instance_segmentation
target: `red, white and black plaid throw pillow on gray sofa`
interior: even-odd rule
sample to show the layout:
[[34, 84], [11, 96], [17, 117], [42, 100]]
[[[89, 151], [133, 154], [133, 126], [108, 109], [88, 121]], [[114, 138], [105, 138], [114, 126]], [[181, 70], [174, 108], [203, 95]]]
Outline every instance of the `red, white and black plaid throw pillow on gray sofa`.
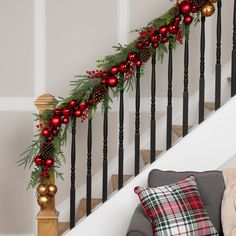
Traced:
[[219, 235], [203, 209], [194, 176], [158, 188], [136, 187], [155, 236]]

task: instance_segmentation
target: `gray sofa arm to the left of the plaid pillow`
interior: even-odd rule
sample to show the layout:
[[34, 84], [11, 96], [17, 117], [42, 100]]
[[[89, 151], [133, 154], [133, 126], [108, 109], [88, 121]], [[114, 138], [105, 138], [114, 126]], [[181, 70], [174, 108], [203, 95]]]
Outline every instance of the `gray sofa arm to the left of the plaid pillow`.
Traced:
[[134, 211], [126, 236], [153, 236], [151, 222], [141, 205]]

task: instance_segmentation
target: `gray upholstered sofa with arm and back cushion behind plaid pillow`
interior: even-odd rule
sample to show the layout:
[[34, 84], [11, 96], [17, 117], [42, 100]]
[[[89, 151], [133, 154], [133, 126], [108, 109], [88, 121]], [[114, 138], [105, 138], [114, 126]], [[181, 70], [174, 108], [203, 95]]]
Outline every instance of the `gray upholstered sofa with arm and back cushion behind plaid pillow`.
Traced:
[[[148, 186], [158, 187], [175, 183], [190, 175], [194, 175], [199, 192], [213, 225], [220, 235], [223, 235], [221, 226], [221, 200], [225, 184], [222, 172], [174, 172], [152, 170], [148, 176]], [[141, 205], [135, 209], [126, 236], [153, 236], [152, 226]]]

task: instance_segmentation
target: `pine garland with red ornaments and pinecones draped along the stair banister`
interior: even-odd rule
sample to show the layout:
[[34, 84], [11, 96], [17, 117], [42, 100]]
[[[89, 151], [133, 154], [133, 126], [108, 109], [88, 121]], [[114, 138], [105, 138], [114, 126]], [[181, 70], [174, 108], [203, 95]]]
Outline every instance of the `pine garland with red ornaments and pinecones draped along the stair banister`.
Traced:
[[178, 0], [163, 16], [135, 30], [139, 36], [133, 42], [126, 46], [119, 44], [114, 47], [114, 55], [98, 60], [97, 70], [76, 76], [78, 79], [71, 84], [73, 90], [70, 96], [55, 99], [54, 110], [48, 110], [40, 116], [35, 114], [37, 135], [18, 161], [24, 168], [34, 166], [28, 188], [39, 184], [47, 186], [51, 172], [63, 178], [60, 167], [65, 157], [61, 147], [66, 142], [72, 117], [82, 121], [91, 118], [98, 103], [102, 103], [103, 111], [107, 111], [111, 101], [109, 91], [115, 97], [119, 96], [121, 89], [133, 88], [136, 68], [141, 68], [143, 72], [144, 64], [155, 52], [162, 62], [168, 52], [167, 45], [175, 49], [178, 44], [182, 44], [183, 38], [188, 37], [192, 22], [197, 24], [201, 14], [211, 16], [214, 13], [212, 3], [215, 2], [217, 0]]

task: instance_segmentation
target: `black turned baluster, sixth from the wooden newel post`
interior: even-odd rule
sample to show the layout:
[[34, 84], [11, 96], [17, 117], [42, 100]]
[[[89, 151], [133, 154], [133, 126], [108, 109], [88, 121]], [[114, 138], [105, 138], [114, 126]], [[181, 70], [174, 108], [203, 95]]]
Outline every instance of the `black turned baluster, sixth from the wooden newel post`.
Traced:
[[156, 50], [152, 54], [150, 162], [156, 160]]

